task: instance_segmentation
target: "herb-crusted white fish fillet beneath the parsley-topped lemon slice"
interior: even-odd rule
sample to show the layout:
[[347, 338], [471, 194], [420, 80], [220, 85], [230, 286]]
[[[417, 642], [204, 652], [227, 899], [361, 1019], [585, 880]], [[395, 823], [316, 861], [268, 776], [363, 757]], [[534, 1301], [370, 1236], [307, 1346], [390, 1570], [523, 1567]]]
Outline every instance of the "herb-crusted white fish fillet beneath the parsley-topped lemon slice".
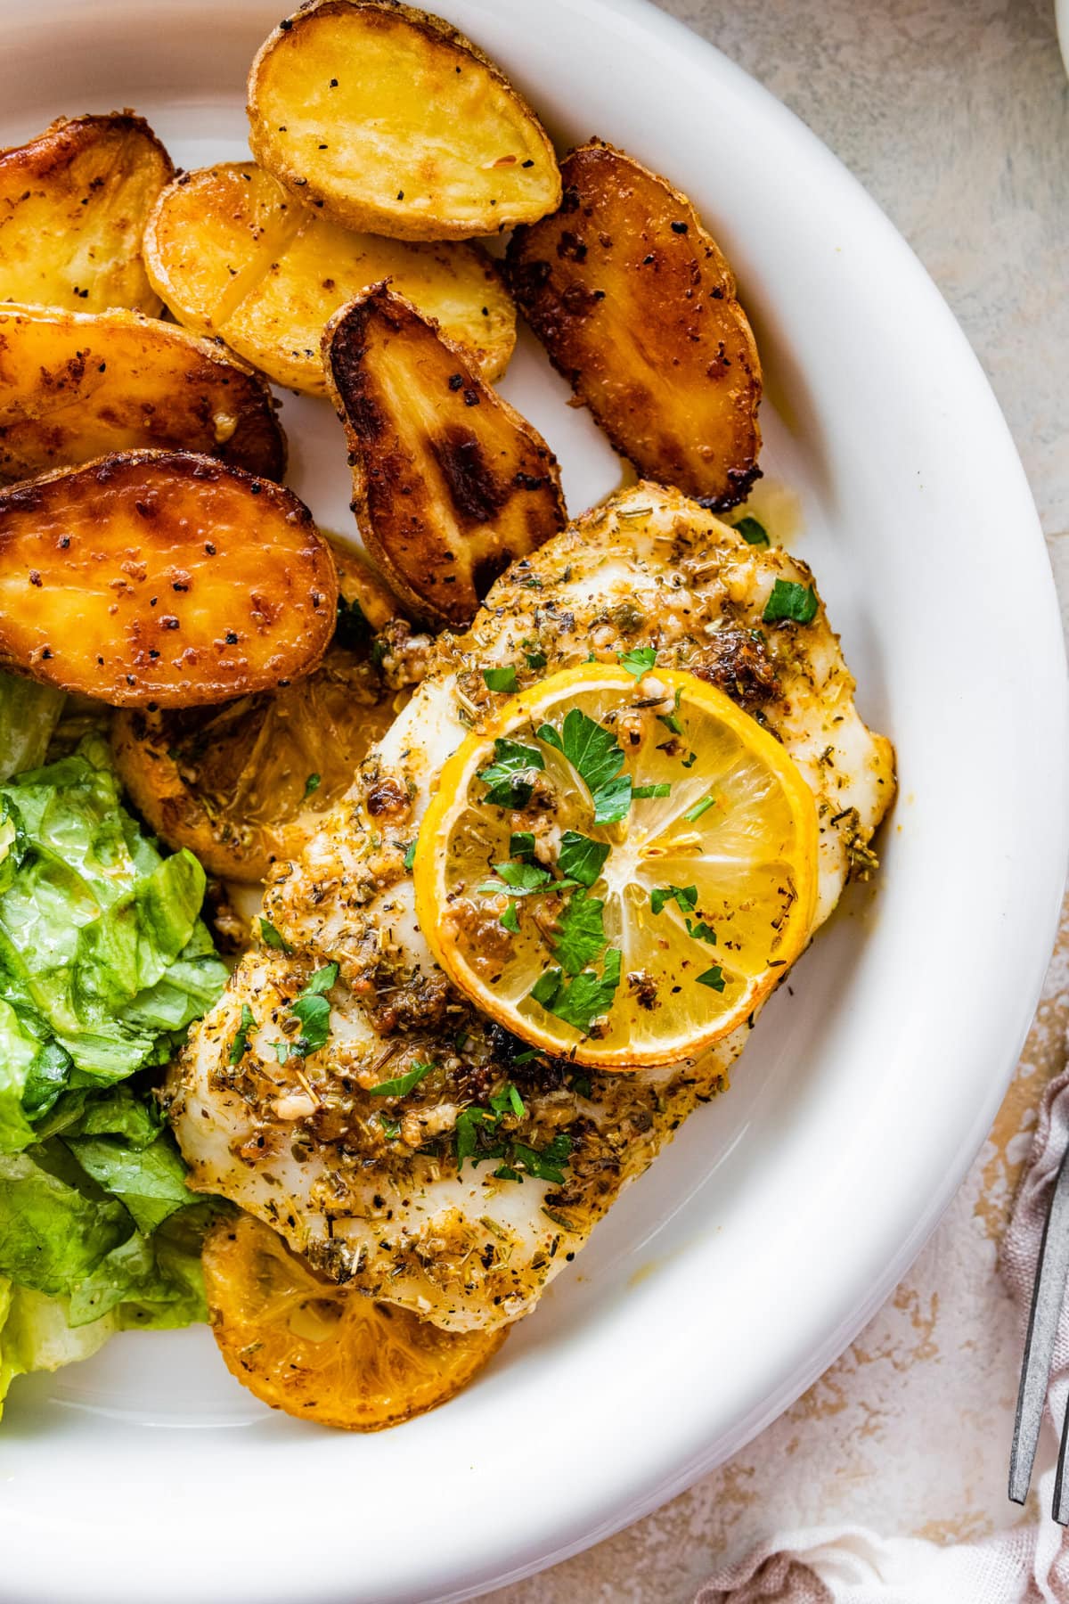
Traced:
[[[822, 606], [809, 624], [763, 622], [776, 579], [805, 585], [809, 571], [678, 492], [636, 484], [516, 563], [465, 635], [436, 642], [412, 701], [268, 889], [266, 917], [292, 953], [250, 953], [171, 1070], [170, 1116], [196, 1189], [258, 1214], [332, 1278], [447, 1330], [532, 1307], [627, 1182], [723, 1088], [747, 1028], [699, 1062], [641, 1073], [532, 1055], [434, 964], [405, 855], [447, 757], [505, 699], [484, 669], [513, 666], [524, 688], [591, 653], [615, 662], [649, 645], [659, 667], [724, 690], [798, 764], [817, 800], [821, 924], [851, 873], [875, 863], [893, 751], [857, 715]], [[487, 914], [487, 943], [502, 938]], [[293, 1001], [329, 962], [330, 1035], [290, 1055]], [[385, 1083], [394, 1091], [372, 1091]], [[470, 1129], [473, 1110], [481, 1129], [535, 1155], [521, 1179], [471, 1158], [458, 1173], [470, 1147], [458, 1121]], [[555, 1156], [563, 1136], [566, 1160]]]

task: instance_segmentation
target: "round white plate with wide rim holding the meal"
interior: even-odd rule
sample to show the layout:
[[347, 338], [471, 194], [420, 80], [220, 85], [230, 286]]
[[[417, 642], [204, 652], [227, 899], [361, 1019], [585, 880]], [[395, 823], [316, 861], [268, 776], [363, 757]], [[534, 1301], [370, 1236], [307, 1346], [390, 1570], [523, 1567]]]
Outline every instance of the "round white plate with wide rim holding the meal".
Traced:
[[[444, 3], [444, 0], [442, 0]], [[282, 6], [0, 0], [0, 136], [136, 106], [197, 165], [244, 143]], [[204, 1330], [19, 1383], [0, 1428], [5, 1601], [462, 1598], [606, 1537], [739, 1448], [901, 1277], [1027, 1028], [1066, 845], [1066, 687], [1021, 467], [950, 313], [787, 111], [641, 0], [449, 0], [561, 146], [686, 189], [736, 265], [771, 478], [899, 751], [873, 895], [851, 895], [696, 1115], [449, 1407], [346, 1437], [261, 1410]], [[617, 465], [540, 353], [506, 393], [580, 510]], [[346, 529], [325, 404], [287, 398], [293, 483]], [[769, 1511], [769, 1519], [773, 1511]]]

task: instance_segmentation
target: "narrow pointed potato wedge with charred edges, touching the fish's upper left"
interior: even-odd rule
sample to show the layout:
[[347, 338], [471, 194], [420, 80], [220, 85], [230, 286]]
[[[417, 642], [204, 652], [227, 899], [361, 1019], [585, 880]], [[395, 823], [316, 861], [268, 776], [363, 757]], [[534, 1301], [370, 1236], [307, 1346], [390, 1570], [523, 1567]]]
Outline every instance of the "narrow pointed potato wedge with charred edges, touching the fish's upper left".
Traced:
[[367, 550], [423, 618], [468, 624], [497, 576], [567, 523], [556, 457], [386, 284], [332, 318], [324, 364]]

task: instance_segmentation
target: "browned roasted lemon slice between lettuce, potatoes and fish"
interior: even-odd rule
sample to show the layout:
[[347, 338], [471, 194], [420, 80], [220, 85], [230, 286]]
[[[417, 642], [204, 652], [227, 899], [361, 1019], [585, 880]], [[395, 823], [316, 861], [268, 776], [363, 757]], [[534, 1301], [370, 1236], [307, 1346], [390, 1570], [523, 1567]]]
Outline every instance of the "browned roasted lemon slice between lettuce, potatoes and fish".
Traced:
[[404, 704], [372, 661], [372, 632], [401, 608], [351, 552], [335, 547], [335, 563], [338, 627], [305, 678], [221, 707], [112, 719], [115, 767], [138, 810], [221, 879], [263, 881], [295, 858]]

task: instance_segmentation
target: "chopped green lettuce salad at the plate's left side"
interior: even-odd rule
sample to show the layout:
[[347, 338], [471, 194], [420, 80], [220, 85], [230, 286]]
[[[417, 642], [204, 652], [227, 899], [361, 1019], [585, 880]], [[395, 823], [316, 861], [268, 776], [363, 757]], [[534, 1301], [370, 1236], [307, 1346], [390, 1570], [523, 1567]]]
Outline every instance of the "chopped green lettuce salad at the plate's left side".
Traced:
[[151, 1071], [226, 982], [204, 869], [123, 810], [99, 733], [11, 778], [59, 715], [40, 690], [0, 675], [0, 1400], [114, 1331], [205, 1317], [213, 1205]]

